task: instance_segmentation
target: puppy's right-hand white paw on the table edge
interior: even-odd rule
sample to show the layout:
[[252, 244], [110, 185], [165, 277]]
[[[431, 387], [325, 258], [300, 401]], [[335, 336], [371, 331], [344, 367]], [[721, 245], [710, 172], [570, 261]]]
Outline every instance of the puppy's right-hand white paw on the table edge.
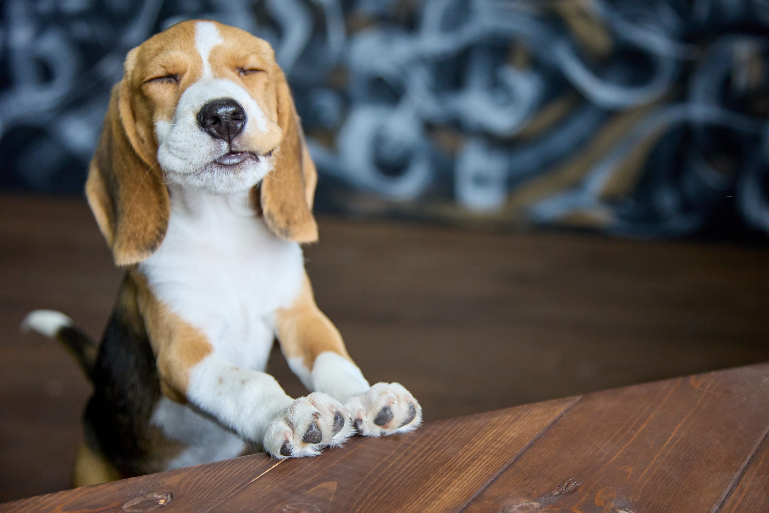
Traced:
[[365, 436], [414, 431], [422, 422], [422, 408], [400, 383], [377, 383], [365, 394], [349, 398], [355, 430]]

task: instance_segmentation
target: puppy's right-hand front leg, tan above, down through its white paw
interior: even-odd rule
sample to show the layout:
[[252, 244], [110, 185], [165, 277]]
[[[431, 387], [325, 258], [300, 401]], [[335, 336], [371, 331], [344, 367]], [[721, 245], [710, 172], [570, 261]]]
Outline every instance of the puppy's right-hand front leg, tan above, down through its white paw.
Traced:
[[412, 431], [421, 423], [421, 406], [403, 385], [368, 384], [339, 331], [315, 304], [308, 278], [294, 305], [275, 313], [275, 333], [291, 370], [309, 390], [344, 403], [361, 435]]

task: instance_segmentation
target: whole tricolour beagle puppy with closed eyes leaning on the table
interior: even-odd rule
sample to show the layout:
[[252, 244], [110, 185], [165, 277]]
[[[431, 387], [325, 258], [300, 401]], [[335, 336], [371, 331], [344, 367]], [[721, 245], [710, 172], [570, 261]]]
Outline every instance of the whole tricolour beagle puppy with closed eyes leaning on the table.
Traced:
[[[267, 42], [188, 21], [128, 52], [85, 186], [126, 270], [112, 318], [99, 345], [59, 312], [25, 321], [93, 382], [76, 486], [418, 427], [418, 401], [369, 385], [315, 305], [301, 244], [318, 238], [316, 182]], [[265, 374], [275, 338], [311, 394]]]

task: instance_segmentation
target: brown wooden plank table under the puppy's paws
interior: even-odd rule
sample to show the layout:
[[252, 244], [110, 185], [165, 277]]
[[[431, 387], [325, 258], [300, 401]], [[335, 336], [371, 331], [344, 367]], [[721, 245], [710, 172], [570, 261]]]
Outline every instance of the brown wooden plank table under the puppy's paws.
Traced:
[[0, 511], [769, 511], [769, 364], [251, 455]]

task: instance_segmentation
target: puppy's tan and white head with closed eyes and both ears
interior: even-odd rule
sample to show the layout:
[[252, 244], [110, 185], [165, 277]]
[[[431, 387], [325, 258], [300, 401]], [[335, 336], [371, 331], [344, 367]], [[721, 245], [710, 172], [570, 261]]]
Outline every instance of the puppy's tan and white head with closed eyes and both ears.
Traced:
[[250, 190], [275, 235], [314, 242], [316, 182], [271, 46], [238, 28], [189, 21], [128, 52], [85, 192], [115, 262], [131, 265], [165, 236], [167, 183]]

